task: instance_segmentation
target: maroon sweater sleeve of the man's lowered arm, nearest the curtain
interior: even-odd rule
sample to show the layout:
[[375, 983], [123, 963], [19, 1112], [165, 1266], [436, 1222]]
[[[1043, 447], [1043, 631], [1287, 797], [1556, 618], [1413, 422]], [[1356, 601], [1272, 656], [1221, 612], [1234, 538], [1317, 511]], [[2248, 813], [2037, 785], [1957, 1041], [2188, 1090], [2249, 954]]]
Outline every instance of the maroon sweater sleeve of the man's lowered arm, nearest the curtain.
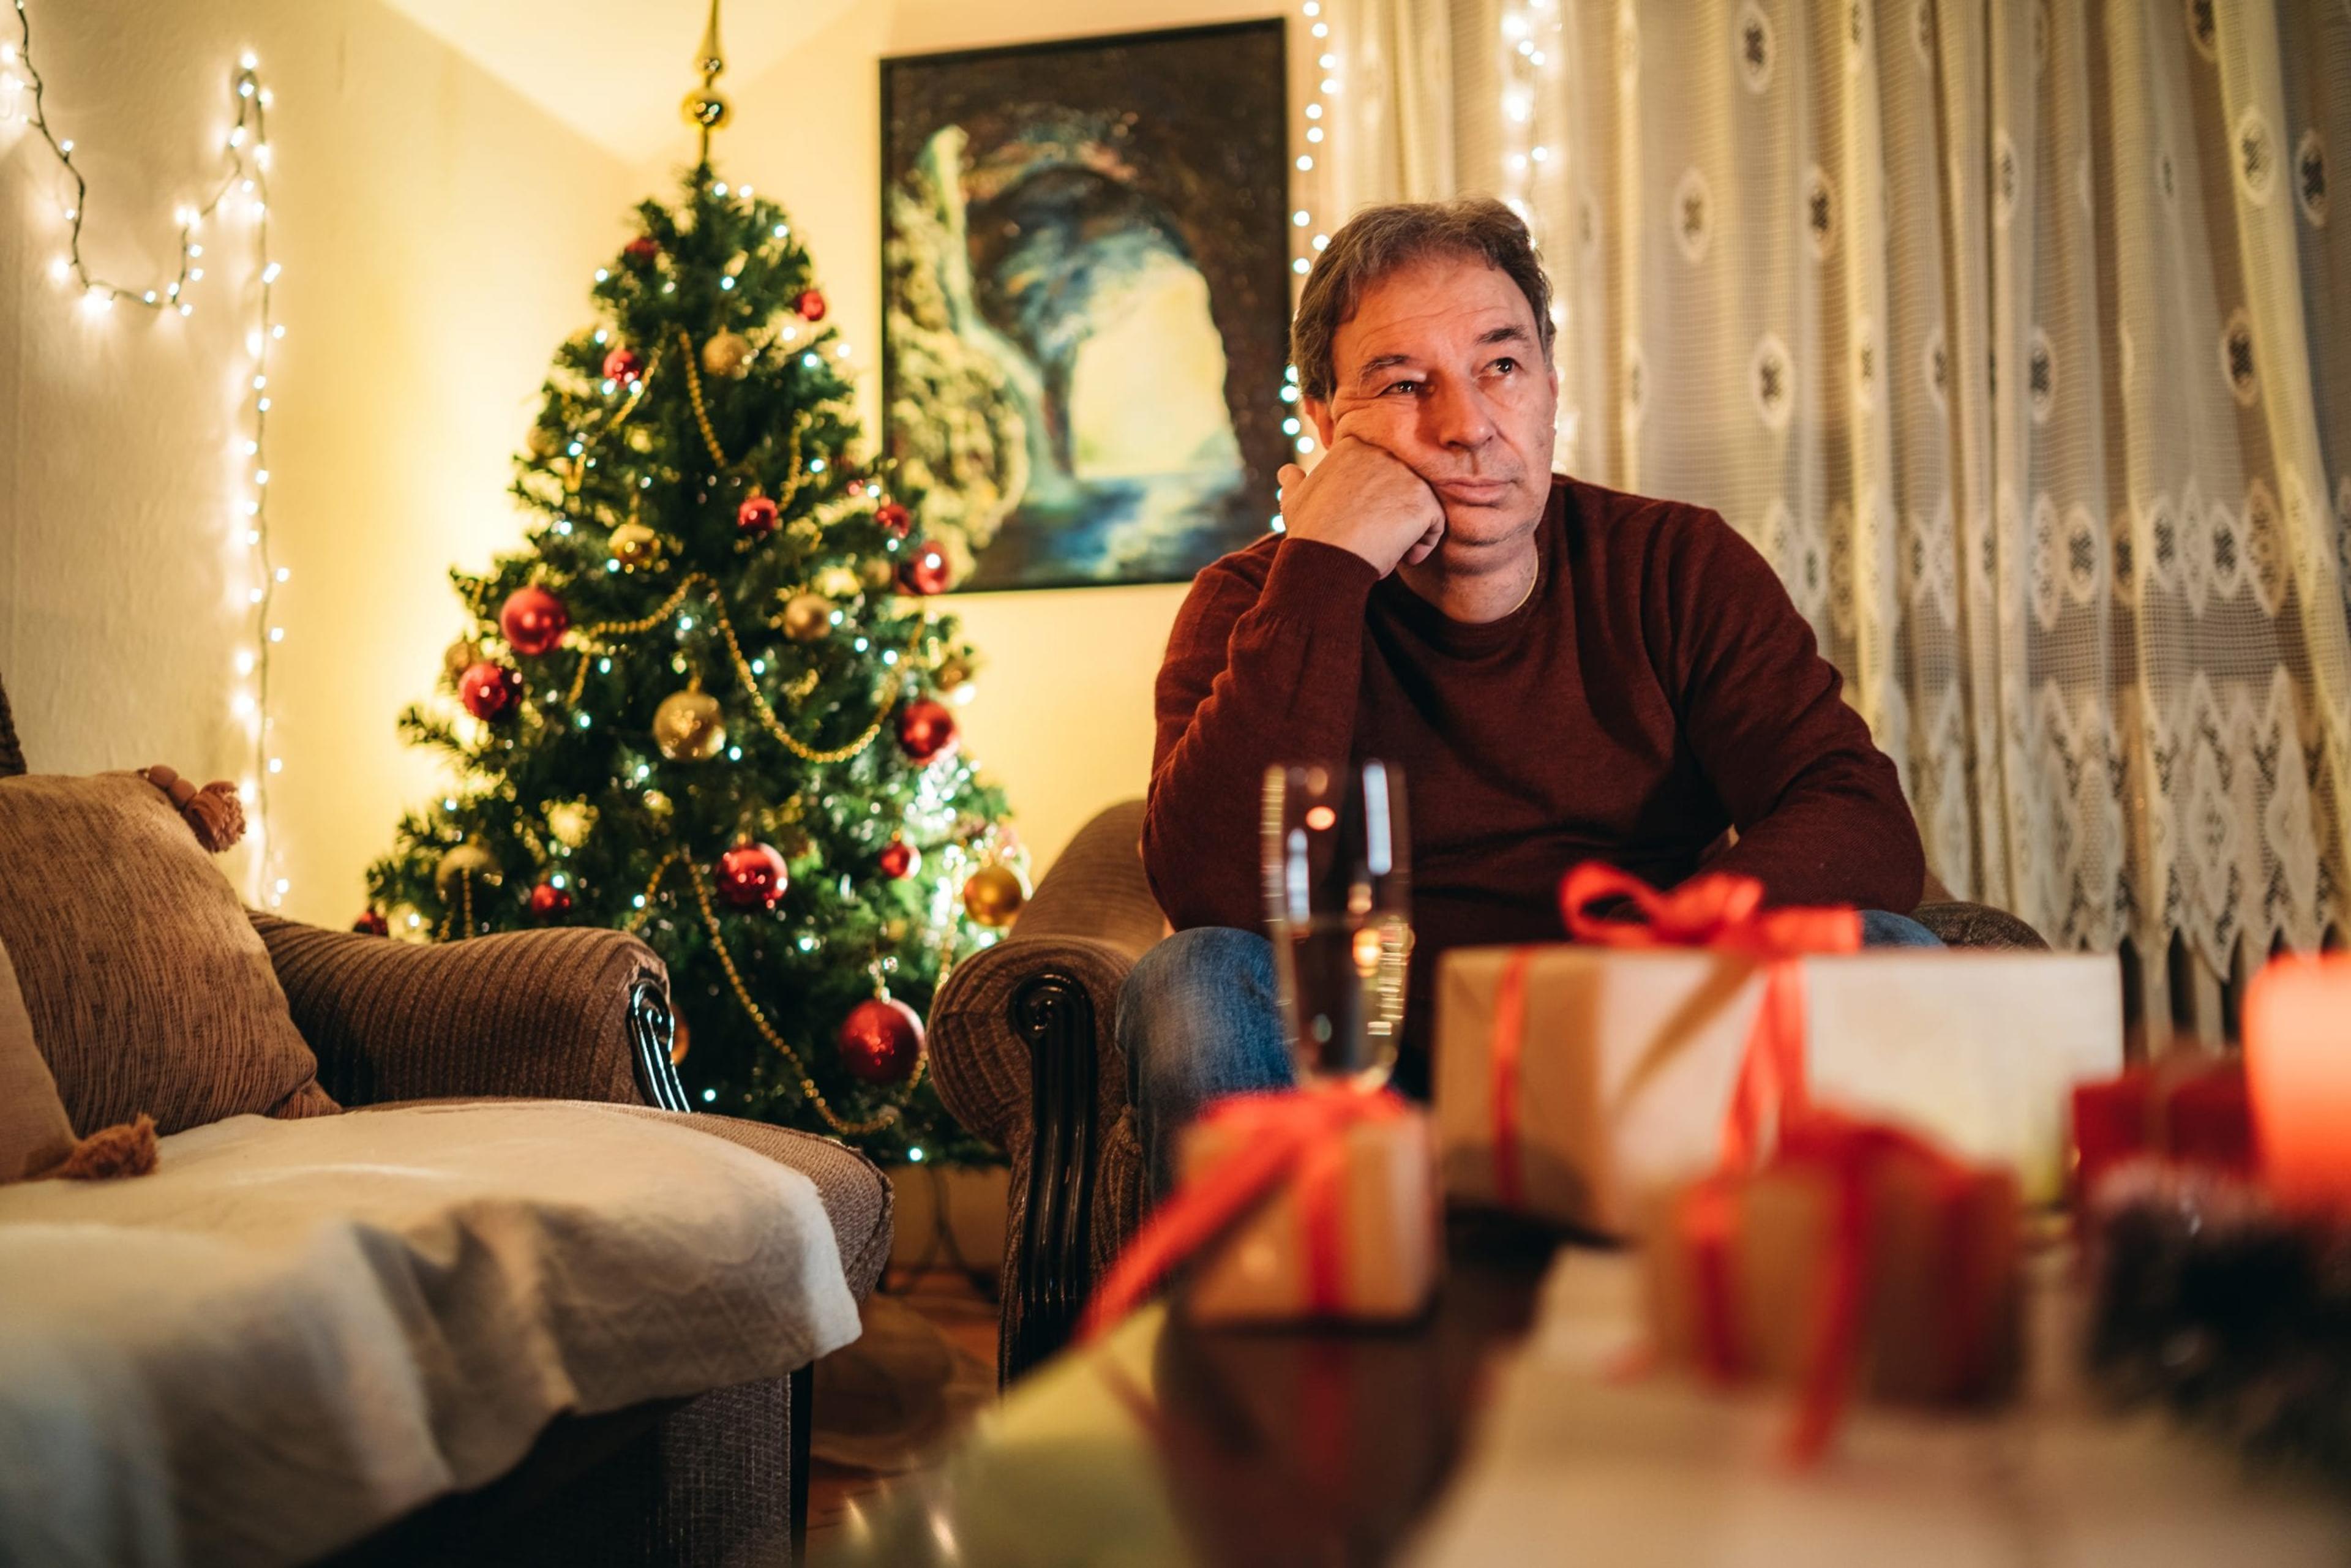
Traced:
[[1681, 733], [1737, 827], [1709, 870], [1756, 877], [1775, 905], [1918, 907], [1925, 853], [1902, 778], [1763, 555], [1686, 510], [1653, 571]]

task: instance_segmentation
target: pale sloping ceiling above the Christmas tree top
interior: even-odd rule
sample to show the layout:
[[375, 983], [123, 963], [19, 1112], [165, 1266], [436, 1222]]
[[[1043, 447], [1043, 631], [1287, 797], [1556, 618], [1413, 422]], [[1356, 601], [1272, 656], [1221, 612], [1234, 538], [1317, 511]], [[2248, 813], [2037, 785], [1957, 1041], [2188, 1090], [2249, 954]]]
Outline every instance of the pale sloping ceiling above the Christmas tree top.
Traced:
[[[738, 0], [719, 24], [741, 92], [853, 0]], [[386, 0], [581, 136], [628, 162], [665, 150], [696, 85], [703, 0]]]

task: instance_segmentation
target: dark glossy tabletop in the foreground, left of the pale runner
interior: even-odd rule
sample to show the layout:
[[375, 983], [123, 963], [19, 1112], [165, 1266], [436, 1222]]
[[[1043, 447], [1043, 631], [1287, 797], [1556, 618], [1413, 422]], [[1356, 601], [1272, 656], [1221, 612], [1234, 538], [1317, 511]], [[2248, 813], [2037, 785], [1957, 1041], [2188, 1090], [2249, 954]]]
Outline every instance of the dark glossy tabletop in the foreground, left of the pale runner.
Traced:
[[1147, 1307], [1030, 1373], [823, 1563], [1382, 1563], [1533, 1319], [1556, 1237], [1448, 1227], [1418, 1324], [1197, 1328]]

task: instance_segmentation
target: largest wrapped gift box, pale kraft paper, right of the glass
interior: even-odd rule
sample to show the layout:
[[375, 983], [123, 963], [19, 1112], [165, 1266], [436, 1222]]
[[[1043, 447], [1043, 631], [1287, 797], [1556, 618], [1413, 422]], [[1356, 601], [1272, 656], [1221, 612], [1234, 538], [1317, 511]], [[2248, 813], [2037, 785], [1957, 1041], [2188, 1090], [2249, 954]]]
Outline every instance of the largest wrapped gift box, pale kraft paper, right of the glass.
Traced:
[[[1498, 997], [1519, 952], [1514, 1114], [1498, 1119]], [[2012, 1166], [2027, 1204], [2064, 1194], [2069, 1091], [2123, 1065], [2111, 957], [1876, 950], [1784, 961], [1803, 978], [1813, 1103]], [[1641, 1194], [1721, 1157], [1766, 969], [1709, 947], [1448, 952], [1434, 1048], [1446, 1197], [1629, 1232]], [[1512, 1145], [1505, 1171], [1498, 1147]]]

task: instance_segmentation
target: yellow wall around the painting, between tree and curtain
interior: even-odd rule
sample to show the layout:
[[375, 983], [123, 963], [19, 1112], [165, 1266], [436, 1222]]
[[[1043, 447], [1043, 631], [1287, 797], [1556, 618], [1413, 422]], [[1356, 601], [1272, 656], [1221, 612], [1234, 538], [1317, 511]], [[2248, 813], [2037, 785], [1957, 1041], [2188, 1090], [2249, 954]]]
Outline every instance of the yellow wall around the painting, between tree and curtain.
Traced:
[[[1117, 9], [1077, 0], [863, 0], [797, 54], [752, 80], [724, 80], [736, 120], [717, 162], [792, 214], [825, 280], [825, 296], [865, 362], [860, 388], [879, 430], [882, 346], [882, 89], [891, 54], [1126, 33], [1284, 14], [1267, 0], [1136, 0]], [[1293, 54], [1298, 40], [1293, 40]], [[639, 183], [668, 179], [691, 155], [682, 136]], [[1272, 503], [1272, 496], [1267, 496]], [[1272, 505], [1267, 505], [1272, 510]], [[1011, 795], [1016, 827], [1041, 872], [1103, 806], [1143, 792], [1152, 762], [1152, 677], [1183, 585], [957, 595], [983, 654], [962, 710], [969, 755]]]

